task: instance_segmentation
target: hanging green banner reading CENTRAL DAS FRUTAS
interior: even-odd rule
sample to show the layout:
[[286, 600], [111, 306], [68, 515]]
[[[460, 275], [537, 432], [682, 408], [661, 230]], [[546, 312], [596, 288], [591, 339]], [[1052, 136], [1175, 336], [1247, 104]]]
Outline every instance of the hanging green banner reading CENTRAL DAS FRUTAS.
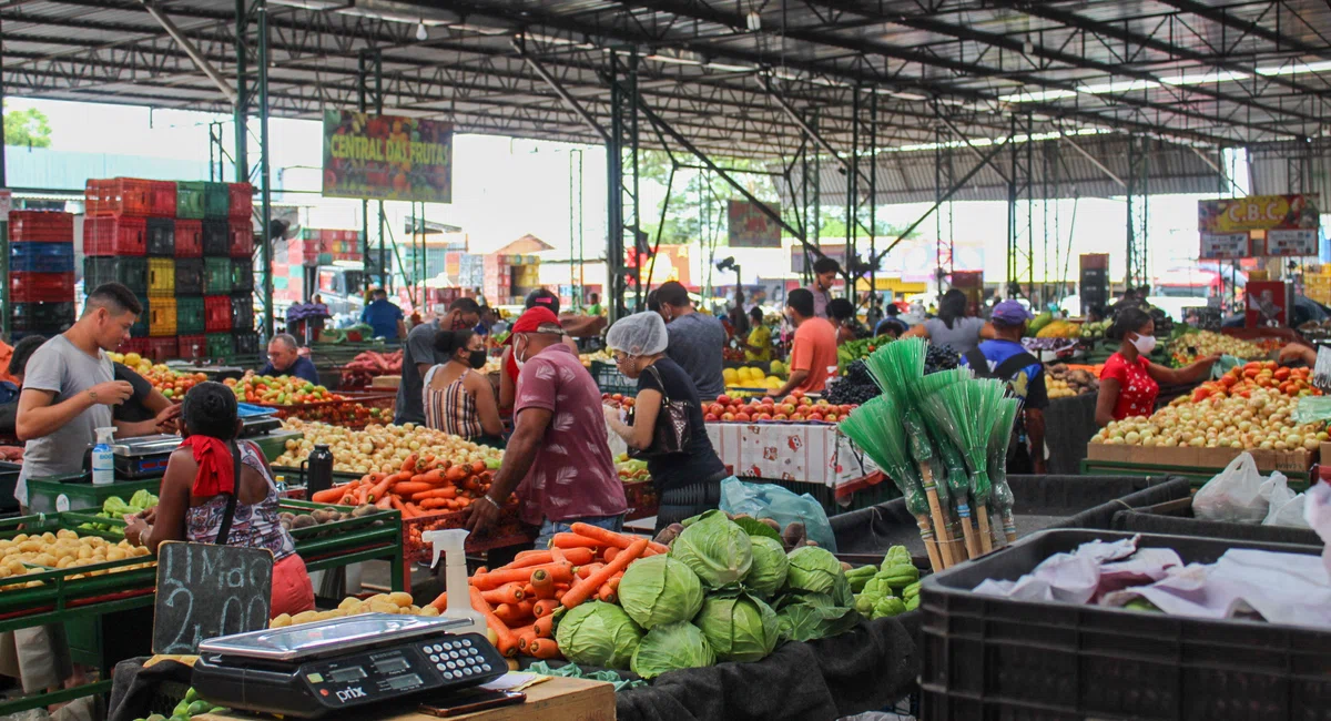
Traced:
[[453, 125], [325, 110], [323, 194], [453, 202]]

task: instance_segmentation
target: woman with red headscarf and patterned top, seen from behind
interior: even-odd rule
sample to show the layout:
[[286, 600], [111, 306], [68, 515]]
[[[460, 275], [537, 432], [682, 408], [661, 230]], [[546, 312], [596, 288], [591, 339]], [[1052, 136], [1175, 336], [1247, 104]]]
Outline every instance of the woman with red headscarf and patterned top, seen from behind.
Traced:
[[200, 383], [181, 408], [185, 440], [166, 463], [160, 502], [136, 516], [125, 539], [153, 552], [185, 540], [266, 548], [273, 553], [273, 617], [314, 608], [314, 585], [295, 541], [278, 520], [273, 472], [258, 446], [238, 440], [236, 394]]

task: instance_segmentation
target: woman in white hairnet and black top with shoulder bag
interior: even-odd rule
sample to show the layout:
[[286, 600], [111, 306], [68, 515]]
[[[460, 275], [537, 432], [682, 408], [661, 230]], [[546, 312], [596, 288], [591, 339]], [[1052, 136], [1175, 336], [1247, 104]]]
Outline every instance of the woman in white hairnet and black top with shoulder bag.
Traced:
[[606, 345], [615, 353], [620, 372], [638, 380], [632, 426], [619, 419], [618, 408], [606, 407], [610, 427], [630, 448], [647, 450], [652, 444], [652, 431], [664, 399], [684, 403], [688, 408], [684, 452], [647, 459], [647, 470], [660, 498], [656, 532], [716, 508], [721, 500], [721, 482], [732, 478], [707, 438], [697, 387], [679, 363], [666, 357], [666, 322], [651, 311], [622, 318], [606, 334]]

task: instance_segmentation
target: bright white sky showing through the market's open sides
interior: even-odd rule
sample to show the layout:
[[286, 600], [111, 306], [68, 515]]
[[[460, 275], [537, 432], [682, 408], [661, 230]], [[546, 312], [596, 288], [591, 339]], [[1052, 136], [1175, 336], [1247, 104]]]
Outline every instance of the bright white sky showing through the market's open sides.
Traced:
[[[47, 114], [52, 128], [52, 149], [84, 153], [106, 153], [106, 134], [114, 128], [113, 152], [154, 158], [206, 162], [209, 157], [209, 124], [222, 121], [224, 142], [232, 148], [233, 126], [229, 116], [180, 110], [152, 110], [140, 106], [93, 105], [81, 102], [9, 98], [11, 109], [37, 108]], [[250, 125], [258, 132], [257, 121]], [[314, 209], [303, 221], [313, 227], [361, 226], [358, 201], [319, 201], [322, 133], [317, 121], [274, 118], [269, 122], [270, 166], [274, 188], [293, 190], [277, 200], [309, 204]], [[256, 152], [252, 144], [252, 157]], [[582, 238], [583, 257], [604, 255], [606, 238], [606, 164], [598, 146], [574, 146], [548, 141], [514, 140], [496, 136], [459, 134], [454, 138], [454, 202], [429, 205], [426, 218], [463, 227], [474, 251], [490, 251], [527, 233], [567, 254], [576, 231], [571, 229], [571, 208], [576, 200], [576, 162], [582, 158]], [[572, 168], [572, 169], [571, 169]], [[572, 177], [571, 177], [572, 173]], [[16, 184], [17, 185], [17, 184]], [[295, 193], [305, 190], [309, 193]], [[664, 197], [664, 188], [646, 184], [644, 209], [655, 208]], [[1153, 271], [1191, 265], [1197, 255], [1198, 196], [1162, 196], [1150, 202], [1150, 266]], [[409, 213], [407, 204], [387, 204], [393, 218]], [[880, 206], [878, 217], [896, 226], [913, 222], [928, 204]], [[961, 266], [985, 270], [986, 279], [1005, 274], [1006, 204], [957, 202], [952, 208], [956, 226], [952, 237], [958, 246]], [[1044, 216], [1037, 204], [1037, 218]], [[1050, 217], [1058, 217], [1059, 242], [1054, 239], [1050, 221], [1049, 258], [1044, 257], [1045, 233], [1036, 222], [1036, 265], [1042, 274], [1045, 265], [1059, 255], [1109, 251], [1111, 275], [1122, 273], [1125, 263], [1126, 205], [1122, 198], [1086, 198], [1057, 201]], [[572, 218], [576, 222], [576, 214]], [[1075, 222], [1074, 222], [1075, 219]], [[402, 227], [401, 222], [393, 225]], [[941, 227], [948, 235], [946, 223]], [[933, 265], [933, 245], [938, 225], [933, 218], [920, 227], [920, 238], [893, 253], [888, 266], [905, 274], [920, 274]], [[861, 241], [864, 243], [864, 241]], [[717, 258], [735, 255], [745, 275], [773, 277], [791, 270], [791, 251], [723, 249]], [[693, 253], [695, 282], [700, 277], [703, 253]], [[1075, 278], [1075, 258], [1069, 275]], [[1050, 275], [1059, 275], [1051, 270]], [[721, 282], [717, 278], [717, 282]]]

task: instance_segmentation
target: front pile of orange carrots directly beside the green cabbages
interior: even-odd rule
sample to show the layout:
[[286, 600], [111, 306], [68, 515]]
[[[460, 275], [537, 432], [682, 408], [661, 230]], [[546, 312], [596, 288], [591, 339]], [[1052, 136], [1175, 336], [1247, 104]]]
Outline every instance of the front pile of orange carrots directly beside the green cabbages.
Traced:
[[[628, 564], [667, 551], [644, 537], [575, 523], [571, 532], [556, 533], [547, 551], [523, 551], [508, 565], [478, 569], [469, 580], [471, 608], [486, 617], [504, 656], [560, 658], [555, 611], [587, 600], [618, 603]], [[430, 605], [445, 611], [449, 595]]]

